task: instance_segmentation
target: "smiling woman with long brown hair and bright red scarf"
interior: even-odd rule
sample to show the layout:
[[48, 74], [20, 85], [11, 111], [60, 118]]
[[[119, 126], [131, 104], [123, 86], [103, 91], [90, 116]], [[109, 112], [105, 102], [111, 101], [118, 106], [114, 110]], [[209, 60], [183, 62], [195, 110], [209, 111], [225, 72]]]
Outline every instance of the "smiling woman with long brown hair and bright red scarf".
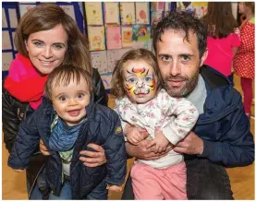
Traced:
[[[76, 21], [55, 4], [31, 8], [20, 20], [15, 35], [18, 56], [12, 62], [3, 83], [3, 131], [6, 149], [10, 152], [18, 133], [19, 123], [42, 102], [43, 86], [48, 75], [61, 64], [82, 66], [90, 72], [94, 86], [94, 101], [107, 105], [107, 95], [98, 71], [91, 68], [88, 41], [79, 31]], [[92, 96], [93, 97], [93, 96]], [[104, 149], [92, 144], [96, 152], [81, 151], [86, 166], [104, 164]], [[41, 151], [49, 155], [41, 144]], [[90, 158], [91, 157], [91, 158]], [[47, 156], [39, 150], [30, 159], [27, 186], [30, 199], [42, 199], [37, 184], [43, 182], [43, 165]], [[37, 179], [41, 179], [40, 181]], [[65, 199], [63, 188], [58, 199]]]

